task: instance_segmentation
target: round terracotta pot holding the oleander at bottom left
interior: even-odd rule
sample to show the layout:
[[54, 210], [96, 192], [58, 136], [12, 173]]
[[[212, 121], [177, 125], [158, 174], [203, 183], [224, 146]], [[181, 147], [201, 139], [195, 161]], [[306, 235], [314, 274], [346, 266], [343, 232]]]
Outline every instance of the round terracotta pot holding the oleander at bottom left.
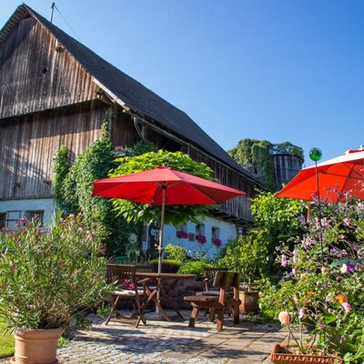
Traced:
[[19, 329], [15, 331], [16, 364], [56, 364], [58, 339], [63, 329]]

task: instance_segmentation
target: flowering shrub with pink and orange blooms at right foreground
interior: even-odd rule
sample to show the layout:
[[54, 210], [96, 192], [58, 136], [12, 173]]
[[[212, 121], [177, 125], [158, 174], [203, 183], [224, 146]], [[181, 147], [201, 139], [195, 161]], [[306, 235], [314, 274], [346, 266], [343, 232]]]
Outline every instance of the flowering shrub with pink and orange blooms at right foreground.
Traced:
[[275, 309], [301, 353], [340, 352], [362, 363], [364, 204], [324, 206], [323, 216], [302, 219], [304, 237], [277, 249], [287, 272], [261, 303]]

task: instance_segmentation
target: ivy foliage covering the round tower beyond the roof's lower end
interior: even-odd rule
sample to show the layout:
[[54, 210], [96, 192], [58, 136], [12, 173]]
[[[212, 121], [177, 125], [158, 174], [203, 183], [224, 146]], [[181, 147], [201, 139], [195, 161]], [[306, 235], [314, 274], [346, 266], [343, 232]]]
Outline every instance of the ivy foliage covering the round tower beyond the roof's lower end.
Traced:
[[273, 155], [290, 154], [303, 160], [302, 148], [289, 142], [272, 144], [268, 140], [248, 138], [240, 140], [238, 146], [227, 153], [249, 172], [262, 174], [269, 191], [277, 190]]

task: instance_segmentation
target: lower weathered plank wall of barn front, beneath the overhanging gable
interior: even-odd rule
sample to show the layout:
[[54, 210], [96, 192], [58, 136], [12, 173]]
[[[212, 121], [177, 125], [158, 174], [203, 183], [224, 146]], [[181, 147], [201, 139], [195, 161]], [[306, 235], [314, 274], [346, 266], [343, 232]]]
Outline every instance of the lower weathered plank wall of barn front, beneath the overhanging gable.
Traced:
[[0, 122], [0, 199], [51, 197], [53, 157], [72, 158], [101, 136], [104, 104], [89, 102]]

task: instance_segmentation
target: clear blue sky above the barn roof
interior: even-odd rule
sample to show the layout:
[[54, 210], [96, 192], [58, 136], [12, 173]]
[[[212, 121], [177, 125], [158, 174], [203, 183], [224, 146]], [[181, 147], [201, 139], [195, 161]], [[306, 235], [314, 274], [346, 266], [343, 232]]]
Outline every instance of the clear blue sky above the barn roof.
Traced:
[[[49, 19], [51, 1], [28, 0]], [[0, 0], [0, 26], [20, 3]], [[361, 0], [58, 0], [82, 43], [229, 149], [364, 144]], [[57, 12], [54, 23], [73, 35]], [[306, 158], [307, 166], [312, 163]]]

